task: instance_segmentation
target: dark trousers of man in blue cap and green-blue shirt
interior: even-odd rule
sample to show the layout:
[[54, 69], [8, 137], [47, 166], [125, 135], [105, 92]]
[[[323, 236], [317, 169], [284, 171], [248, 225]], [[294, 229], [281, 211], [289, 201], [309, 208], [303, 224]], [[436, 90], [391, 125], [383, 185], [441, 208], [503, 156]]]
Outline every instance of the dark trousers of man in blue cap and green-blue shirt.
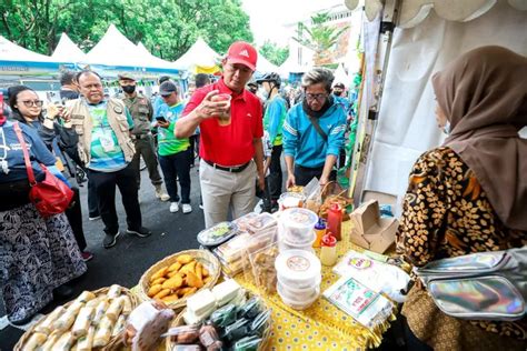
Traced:
[[159, 164], [161, 164], [165, 185], [170, 195], [170, 202], [179, 201], [178, 182], [176, 180], [176, 178], [179, 178], [179, 184], [181, 185], [181, 203], [190, 203], [189, 156], [190, 149], [175, 154], [159, 156]]

